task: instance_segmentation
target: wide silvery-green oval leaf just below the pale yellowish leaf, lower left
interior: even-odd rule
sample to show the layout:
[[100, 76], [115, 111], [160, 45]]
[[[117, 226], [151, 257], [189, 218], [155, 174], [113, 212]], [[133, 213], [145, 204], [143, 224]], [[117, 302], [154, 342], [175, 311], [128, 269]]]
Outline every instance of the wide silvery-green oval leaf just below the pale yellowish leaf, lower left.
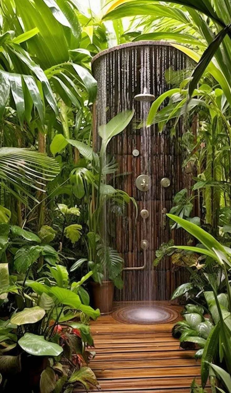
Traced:
[[18, 345], [27, 353], [34, 356], [59, 356], [63, 352], [60, 345], [46, 341], [43, 336], [25, 333]]

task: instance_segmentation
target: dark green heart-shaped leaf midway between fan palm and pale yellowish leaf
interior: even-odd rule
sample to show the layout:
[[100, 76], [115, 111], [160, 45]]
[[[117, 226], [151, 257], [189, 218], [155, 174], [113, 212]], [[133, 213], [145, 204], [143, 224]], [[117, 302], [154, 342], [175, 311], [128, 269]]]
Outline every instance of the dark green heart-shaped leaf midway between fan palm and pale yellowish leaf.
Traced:
[[26, 273], [28, 268], [37, 261], [41, 255], [40, 246], [24, 246], [15, 254], [14, 266], [18, 273]]

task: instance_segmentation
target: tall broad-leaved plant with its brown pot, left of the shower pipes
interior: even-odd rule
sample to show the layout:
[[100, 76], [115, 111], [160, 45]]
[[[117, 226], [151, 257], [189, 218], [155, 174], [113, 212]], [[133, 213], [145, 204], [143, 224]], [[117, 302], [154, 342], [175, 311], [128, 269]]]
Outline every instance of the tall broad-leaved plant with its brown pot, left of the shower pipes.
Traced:
[[107, 184], [108, 175], [114, 174], [118, 169], [115, 161], [107, 161], [107, 145], [113, 136], [116, 136], [128, 126], [133, 115], [134, 110], [121, 112], [106, 125], [99, 127], [99, 136], [102, 138], [99, 154], [96, 154], [91, 147], [84, 143], [65, 140], [60, 135], [57, 138], [57, 143], [55, 141], [56, 137], [52, 141], [54, 151], [57, 152], [57, 146], [60, 144], [60, 138], [62, 138], [62, 148], [65, 143], [70, 143], [78, 149], [86, 160], [85, 167], [76, 167], [72, 171], [70, 179], [74, 195], [79, 199], [84, 197], [87, 202], [88, 258], [79, 259], [70, 271], [73, 272], [81, 264], [88, 262], [94, 280], [91, 283], [93, 304], [94, 307], [100, 309], [101, 314], [108, 314], [112, 311], [114, 286], [120, 289], [123, 287], [124, 260], [116, 250], [110, 247], [105, 228], [107, 204], [109, 201], [113, 201], [119, 206], [124, 206], [132, 201], [137, 209], [137, 204], [133, 198], [124, 191]]

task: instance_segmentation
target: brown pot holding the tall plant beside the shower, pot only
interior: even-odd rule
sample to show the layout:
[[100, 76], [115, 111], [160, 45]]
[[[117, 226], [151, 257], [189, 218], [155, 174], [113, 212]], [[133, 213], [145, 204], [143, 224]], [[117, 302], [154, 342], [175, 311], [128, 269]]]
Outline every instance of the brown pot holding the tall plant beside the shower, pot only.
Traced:
[[112, 312], [114, 284], [112, 281], [103, 281], [99, 283], [91, 283], [92, 301], [95, 309], [100, 309], [100, 313], [110, 314]]

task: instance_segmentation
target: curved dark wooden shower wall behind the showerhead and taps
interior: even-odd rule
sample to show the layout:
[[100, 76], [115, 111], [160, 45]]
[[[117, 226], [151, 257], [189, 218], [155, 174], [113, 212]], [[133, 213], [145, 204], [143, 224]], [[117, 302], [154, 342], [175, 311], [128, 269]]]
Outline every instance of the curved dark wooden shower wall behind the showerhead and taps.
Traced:
[[[176, 244], [185, 242], [183, 231], [170, 231], [166, 213], [172, 207], [174, 195], [183, 188], [190, 189], [190, 175], [182, 170], [183, 156], [179, 138], [186, 130], [179, 119], [176, 135], [171, 136], [174, 122], [159, 132], [158, 125], [147, 128], [152, 103], [135, 101], [137, 94], [147, 92], [159, 97], [172, 88], [172, 76], [187, 77], [192, 62], [177, 48], [166, 42], [133, 42], [103, 51], [92, 61], [92, 72], [98, 81], [98, 96], [94, 107], [94, 147], [99, 149], [98, 126], [126, 109], [135, 109], [133, 121], [110, 142], [109, 160], [118, 162], [118, 171], [109, 176], [113, 187], [126, 191], [138, 206], [130, 203], [126, 211], [116, 206], [107, 209], [107, 233], [113, 248], [125, 261], [124, 288], [116, 290], [117, 301], [170, 299], [173, 290], [188, 279], [184, 268], [173, 266], [165, 257], [153, 268], [155, 251], [174, 236]], [[166, 105], [164, 101], [162, 107]], [[140, 191], [136, 179], [148, 176], [150, 187]], [[161, 180], [170, 185], [163, 187]], [[148, 217], [140, 212], [146, 209]], [[116, 214], [117, 213], [117, 214]], [[143, 241], [146, 241], [145, 243]], [[142, 246], [148, 247], [146, 250]]]

